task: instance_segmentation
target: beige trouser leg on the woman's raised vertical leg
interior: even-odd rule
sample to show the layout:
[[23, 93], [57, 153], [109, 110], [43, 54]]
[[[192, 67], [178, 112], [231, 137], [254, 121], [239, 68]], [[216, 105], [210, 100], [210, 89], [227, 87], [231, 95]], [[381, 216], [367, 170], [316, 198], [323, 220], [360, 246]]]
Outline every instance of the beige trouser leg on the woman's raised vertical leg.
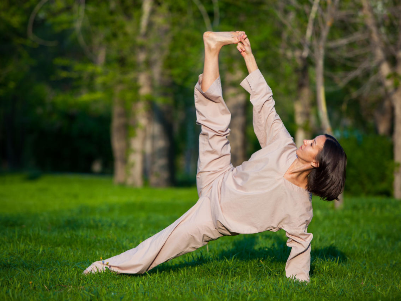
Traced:
[[223, 99], [220, 76], [206, 92], [201, 88], [202, 79], [203, 74], [199, 75], [194, 92], [196, 124], [201, 126], [196, 174], [199, 197], [213, 180], [233, 168], [227, 139], [231, 113]]

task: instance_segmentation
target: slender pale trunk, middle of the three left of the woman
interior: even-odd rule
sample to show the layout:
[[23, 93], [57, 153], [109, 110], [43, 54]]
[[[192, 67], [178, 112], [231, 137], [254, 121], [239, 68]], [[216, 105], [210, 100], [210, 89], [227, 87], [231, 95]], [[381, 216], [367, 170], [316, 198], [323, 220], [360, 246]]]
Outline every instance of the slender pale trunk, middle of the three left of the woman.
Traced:
[[144, 145], [146, 129], [149, 124], [149, 103], [147, 97], [152, 92], [151, 76], [147, 71], [146, 62], [146, 32], [149, 23], [150, 12], [153, 6], [152, 0], [143, 0], [140, 31], [138, 36], [137, 67], [138, 67], [138, 99], [131, 106], [129, 117], [129, 138], [126, 184], [130, 186], [143, 186], [144, 174]]

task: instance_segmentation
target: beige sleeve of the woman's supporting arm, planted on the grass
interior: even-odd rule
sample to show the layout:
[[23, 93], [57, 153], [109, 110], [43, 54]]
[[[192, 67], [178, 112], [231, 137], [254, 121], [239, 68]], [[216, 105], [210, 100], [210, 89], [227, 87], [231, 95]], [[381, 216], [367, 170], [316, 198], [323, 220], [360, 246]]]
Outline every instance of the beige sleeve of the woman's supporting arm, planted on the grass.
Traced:
[[286, 230], [286, 236], [288, 237], [287, 246], [292, 248], [285, 266], [286, 276], [289, 278], [295, 276], [300, 281], [309, 281], [312, 233], [307, 233], [307, 228]]

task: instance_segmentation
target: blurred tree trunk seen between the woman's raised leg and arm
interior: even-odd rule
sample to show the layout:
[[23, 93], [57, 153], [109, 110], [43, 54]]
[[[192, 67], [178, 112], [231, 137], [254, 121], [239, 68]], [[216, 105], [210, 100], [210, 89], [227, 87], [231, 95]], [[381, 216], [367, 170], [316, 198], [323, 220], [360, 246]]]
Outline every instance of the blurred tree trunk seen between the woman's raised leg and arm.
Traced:
[[231, 162], [233, 166], [239, 166], [247, 160], [245, 154], [245, 107], [247, 95], [239, 83], [245, 74], [238, 65], [233, 62], [233, 68], [225, 72], [225, 101], [231, 112], [230, 135]]

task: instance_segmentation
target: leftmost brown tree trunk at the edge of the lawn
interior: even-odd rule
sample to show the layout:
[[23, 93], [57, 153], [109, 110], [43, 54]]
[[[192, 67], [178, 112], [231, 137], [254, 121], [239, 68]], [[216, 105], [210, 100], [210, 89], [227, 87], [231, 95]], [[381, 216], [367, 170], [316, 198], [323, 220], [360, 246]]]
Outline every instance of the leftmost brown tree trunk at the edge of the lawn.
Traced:
[[121, 89], [121, 85], [115, 88], [111, 116], [111, 146], [114, 158], [114, 183], [116, 184], [125, 183], [127, 164], [127, 115], [124, 102], [119, 97]]

